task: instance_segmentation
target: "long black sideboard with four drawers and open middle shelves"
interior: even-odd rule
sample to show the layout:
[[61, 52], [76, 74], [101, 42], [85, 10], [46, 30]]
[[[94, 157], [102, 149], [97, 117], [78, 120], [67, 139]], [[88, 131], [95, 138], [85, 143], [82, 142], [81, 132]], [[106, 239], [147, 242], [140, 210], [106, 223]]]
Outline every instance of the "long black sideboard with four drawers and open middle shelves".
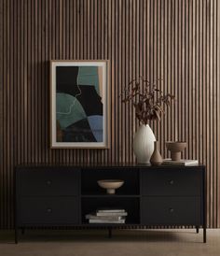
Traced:
[[[206, 242], [204, 165], [19, 165], [15, 168], [15, 242], [29, 227], [186, 226], [203, 229]], [[123, 179], [106, 194], [99, 179]], [[99, 207], [123, 207], [124, 224], [91, 224], [86, 214]]]

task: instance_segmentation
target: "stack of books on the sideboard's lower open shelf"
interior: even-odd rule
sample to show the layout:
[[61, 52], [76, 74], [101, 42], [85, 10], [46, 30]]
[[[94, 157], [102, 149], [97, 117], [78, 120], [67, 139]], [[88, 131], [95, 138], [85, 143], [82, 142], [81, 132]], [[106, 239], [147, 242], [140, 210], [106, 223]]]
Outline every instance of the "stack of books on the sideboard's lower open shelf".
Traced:
[[89, 223], [125, 223], [128, 213], [120, 208], [97, 209], [95, 213], [86, 215]]

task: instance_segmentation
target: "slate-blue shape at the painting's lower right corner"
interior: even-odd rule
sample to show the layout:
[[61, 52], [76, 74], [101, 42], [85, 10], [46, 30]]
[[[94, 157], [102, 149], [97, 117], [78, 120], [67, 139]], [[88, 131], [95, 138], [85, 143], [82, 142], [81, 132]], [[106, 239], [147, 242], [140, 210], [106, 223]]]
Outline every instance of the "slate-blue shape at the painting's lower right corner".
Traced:
[[93, 115], [88, 117], [89, 126], [97, 142], [103, 142], [103, 116]]

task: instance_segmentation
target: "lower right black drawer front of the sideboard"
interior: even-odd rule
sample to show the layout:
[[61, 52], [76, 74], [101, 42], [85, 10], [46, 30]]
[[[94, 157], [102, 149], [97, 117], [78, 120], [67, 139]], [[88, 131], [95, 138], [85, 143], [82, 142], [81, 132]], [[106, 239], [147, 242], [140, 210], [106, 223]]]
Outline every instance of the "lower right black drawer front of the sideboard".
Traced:
[[200, 197], [145, 196], [141, 204], [144, 225], [202, 224]]

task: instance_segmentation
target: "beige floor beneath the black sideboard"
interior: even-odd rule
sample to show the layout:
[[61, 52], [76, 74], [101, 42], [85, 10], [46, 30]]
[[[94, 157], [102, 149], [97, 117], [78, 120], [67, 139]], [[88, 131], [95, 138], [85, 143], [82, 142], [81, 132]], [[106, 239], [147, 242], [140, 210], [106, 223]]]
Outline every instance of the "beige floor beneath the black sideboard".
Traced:
[[39, 231], [20, 234], [18, 245], [13, 233], [0, 232], [1, 256], [217, 256], [220, 229], [195, 230], [115, 230], [108, 238], [105, 230]]

